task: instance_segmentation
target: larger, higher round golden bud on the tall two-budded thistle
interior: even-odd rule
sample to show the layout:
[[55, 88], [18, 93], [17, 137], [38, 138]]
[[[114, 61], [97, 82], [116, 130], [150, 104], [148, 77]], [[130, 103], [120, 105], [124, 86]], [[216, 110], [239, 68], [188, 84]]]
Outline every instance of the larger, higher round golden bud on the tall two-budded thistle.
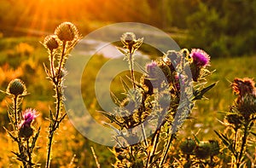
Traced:
[[62, 42], [67, 42], [79, 38], [79, 31], [73, 23], [63, 22], [55, 29], [55, 35]]

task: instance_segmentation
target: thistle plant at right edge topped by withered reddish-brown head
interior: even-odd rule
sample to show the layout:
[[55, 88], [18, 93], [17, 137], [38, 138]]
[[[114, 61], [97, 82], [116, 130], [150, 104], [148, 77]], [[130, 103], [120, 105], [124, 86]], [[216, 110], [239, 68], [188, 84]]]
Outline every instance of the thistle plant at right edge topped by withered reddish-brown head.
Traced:
[[[230, 151], [232, 167], [245, 166], [250, 160], [250, 145], [255, 143], [253, 125], [256, 121], [256, 88], [251, 78], [235, 78], [231, 87], [237, 95], [236, 100], [226, 113], [224, 133], [215, 131]], [[253, 160], [250, 160], [253, 167]], [[250, 166], [250, 165], [247, 165]]]

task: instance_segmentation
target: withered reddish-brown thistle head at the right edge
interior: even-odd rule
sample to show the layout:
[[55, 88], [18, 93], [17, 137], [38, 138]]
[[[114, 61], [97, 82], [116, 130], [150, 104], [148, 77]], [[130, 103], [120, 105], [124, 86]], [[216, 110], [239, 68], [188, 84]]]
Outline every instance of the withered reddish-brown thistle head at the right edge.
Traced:
[[231, 86], [234, 93], [239, 96], [256, 94], [255, 83], [251, 78], [235, 78]]

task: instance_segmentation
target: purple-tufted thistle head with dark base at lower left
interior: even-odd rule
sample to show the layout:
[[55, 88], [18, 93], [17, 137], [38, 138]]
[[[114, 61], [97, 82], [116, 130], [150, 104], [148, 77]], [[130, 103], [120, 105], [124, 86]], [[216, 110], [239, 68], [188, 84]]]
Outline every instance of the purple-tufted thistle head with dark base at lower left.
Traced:
[[32, 121], [38, 117], [37, 111], [31, 108], [26, 109], [22, 114], [23, 121], [20, 124], [19, 136], [28, 139], [33, 134], [33, 128], [31, 127]]

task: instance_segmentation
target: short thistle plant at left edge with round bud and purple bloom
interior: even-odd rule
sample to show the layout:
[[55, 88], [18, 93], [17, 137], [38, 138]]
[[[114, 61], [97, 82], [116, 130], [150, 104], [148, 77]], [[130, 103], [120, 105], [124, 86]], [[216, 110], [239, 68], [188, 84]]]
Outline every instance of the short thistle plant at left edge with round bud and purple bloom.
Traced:
[[38, 140], [40, 128], [36, 130], [32, 126], [32, 122], [38, 116], [36, 110], [27, 108], [23, 113], [21, 103], [23, 97], [27, 95], [26, 85], [19, 79], [15, 78], [9, 82], [6, 91], [2, 91], [12, 100], [8, 105], [8, 115], [11, 128], [5, 129], [11, 139], [17, 143], [18, 150], [12, 151], [16, 159], [22, 162], [23, 167], [34, 167], [35, 163], [32, 160], [32, 151], [35, 148]]

